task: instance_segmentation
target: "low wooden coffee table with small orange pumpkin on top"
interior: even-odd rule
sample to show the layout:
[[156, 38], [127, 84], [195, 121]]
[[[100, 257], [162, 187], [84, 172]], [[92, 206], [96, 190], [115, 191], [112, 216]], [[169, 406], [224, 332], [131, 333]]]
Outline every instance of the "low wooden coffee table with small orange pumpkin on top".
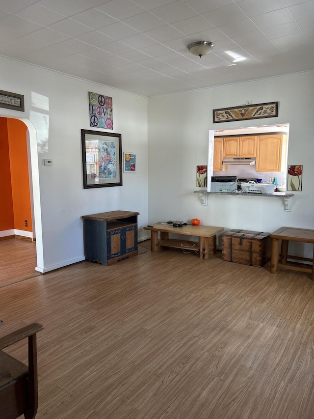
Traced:
[[[167, 248], [200, 251], [201, 259], [208, 259], [209, 254], [216, 253], [216, 234], [224, 230], [224, 227], [211, 227], [209, 225], [183, 225], [173, 227], [172, 224], [157, 223], [152, 227], [144, 227], [144, 230], [151, 230], [151, 250], [158, 251], [158, 245]], [[158, 240], [158, 231], [160, 239]], [[199, 241], [183, 239], [169, 239], [169, 233], [182, 236], [199, 237]]]

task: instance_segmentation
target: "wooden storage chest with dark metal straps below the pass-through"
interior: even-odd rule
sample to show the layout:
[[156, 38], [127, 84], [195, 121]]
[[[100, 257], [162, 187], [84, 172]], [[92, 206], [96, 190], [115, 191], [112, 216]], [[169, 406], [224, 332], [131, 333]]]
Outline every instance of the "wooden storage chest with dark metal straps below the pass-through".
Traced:
[[270, 260], [270, 233], [230, 230], [222, 236], [222, 259], [261, 267]]

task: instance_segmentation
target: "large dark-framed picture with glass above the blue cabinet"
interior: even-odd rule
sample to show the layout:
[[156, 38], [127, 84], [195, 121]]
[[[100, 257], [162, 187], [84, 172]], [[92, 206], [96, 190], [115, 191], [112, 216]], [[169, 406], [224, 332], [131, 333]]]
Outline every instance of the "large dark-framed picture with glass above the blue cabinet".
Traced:
[[81, 130], [83, 186], [122, 186], [121, 134]]

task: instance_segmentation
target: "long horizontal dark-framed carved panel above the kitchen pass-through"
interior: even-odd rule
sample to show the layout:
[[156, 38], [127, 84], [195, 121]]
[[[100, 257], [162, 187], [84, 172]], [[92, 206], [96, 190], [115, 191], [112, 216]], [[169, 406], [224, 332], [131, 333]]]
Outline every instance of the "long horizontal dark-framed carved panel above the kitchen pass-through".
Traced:
[[212, 122], [233, 122], [245, 119], [274, 118], [278, 116], [278, 103], [267, 102], [255, 105], [240, 105], [232, 108], [220, 108], [212, 110]]

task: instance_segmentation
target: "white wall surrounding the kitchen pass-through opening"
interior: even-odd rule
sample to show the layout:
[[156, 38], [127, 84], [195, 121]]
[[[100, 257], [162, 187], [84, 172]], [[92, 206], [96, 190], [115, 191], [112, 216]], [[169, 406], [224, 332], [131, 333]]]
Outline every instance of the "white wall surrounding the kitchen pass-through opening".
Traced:
[[[149, 223], [190, 222], [271, 232], [281, 226], [314, 229], [314, 72], [149, 99]], [[279, 101], [276, 118], [213, 124], [212, 110]], [[303, 165], [302, 192], [294, 192], [291, 212], [281, 198], [211, 195], [208, 206], [194, 194], [196, 166], [208, 164], [209, 130], [290, 124], [288, 165]], [[236, 173], [235, 173], [236, 174]], [[221, 238], [221, 235], [220, 235]], [[220, 241], [221, 242], [221, 241]], [[292, 246], [293, 247], [293, 246]], [[313, 246], [294, 254], [313, 256]]]

